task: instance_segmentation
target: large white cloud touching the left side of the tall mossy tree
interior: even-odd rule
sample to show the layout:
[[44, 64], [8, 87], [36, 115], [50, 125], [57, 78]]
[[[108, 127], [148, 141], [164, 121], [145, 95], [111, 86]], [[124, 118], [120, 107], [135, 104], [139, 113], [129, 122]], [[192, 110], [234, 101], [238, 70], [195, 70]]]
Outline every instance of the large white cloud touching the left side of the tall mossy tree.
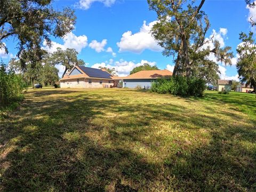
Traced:
[[150, 22], [148, 25], [143, 21], [143, 25], [138, 33], [132, 34], [132, 31], [126, 31], [117, 43], [119, 52], [130, 51], [141, 53], [146, 49], [151, 51], [162, 51], [155, 39], [151, 36], [150, 30], [157, 21]]

